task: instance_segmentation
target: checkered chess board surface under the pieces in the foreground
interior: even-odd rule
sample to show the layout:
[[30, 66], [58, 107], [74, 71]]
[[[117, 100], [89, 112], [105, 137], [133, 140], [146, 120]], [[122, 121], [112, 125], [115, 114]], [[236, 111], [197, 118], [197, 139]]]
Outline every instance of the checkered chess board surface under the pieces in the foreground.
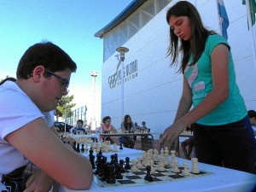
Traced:
[[[154, 165], [157, 166], [158, 163], [154, 162]], [[98, 177], [96, 174], [94, 175], [94, 183], [96, 183], [98, 186], [102, 188], [106, 187], [131, 187], [131, 186], [140, 186], [140, 185], [148, 185], [148, 184], [154, 184], [154, 183], [163, 183], [163, 182], [175, 182], [177, 180], [182, 179], [193, 179], [197, 177], [205, 177], [207, 175], [211, 175], [211, 172], [204, 172], [201, 171], [197, 174], [190, 173], [189, 176], [183, 176], [182, 170], [183, 167], [179, 167], [181, 172], [174, 173], [171, 172], [170, 166], [165, 166], [166, 171], [160, 172], [156, 170], [155, 172], [151, 173], [151, 176], [153, 177], [152, 182], [148, 182], [144, 179], [146, 176], [146, 168], [140, 168], [137, 172], [131, 172], [131, 170], [125, 170], [125, 173], [122, 173], [123, 179], [116, 179], [115, 183], [107, 183], [107, 181], [103, 181], [102, 177]]]

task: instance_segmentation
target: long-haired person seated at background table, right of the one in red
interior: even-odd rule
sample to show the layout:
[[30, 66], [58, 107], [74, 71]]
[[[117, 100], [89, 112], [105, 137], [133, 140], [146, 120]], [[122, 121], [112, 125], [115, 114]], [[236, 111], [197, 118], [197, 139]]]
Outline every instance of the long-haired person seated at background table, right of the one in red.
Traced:
[[[133, 132], [135, 130], [135, 126], [131, 121], [131, 116], [129, 114], [125, 115], [124, 121], [121, 124], [121, 130], [125, 132]], [[134, 148], [135, 141], [133, 137], [130, 136], [122, 136], [119, 137], [119, 143], [123, 143], [125, 148]]]

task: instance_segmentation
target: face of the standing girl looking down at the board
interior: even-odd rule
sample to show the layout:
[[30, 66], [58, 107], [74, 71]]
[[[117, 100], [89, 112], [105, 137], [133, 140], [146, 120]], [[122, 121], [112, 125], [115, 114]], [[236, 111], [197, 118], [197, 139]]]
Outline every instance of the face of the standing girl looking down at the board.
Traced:
[[184, 41], [188, 41], [191, 38], [191, 24], [189, 17], [171, 16], [169, 20], [169, 26], [177, 38], [183, 39]]

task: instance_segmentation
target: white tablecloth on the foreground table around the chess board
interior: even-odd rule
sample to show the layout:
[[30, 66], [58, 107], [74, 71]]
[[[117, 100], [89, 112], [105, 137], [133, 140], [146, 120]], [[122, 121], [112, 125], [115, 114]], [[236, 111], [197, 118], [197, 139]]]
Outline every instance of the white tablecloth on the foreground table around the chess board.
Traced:
[[[113, 153], [109, 153], [110, 156]], [[136, 159], [137, 156], [141, 156], [143, 151], [131, 148], [125, 148], [124, 151], [119, 152], [119, 158], [127, 156], [132, 159]], [[106, 155], [103, 153], [103, 155]], [[170, 157], [171, 160], [171, 157]], [[183, 165], [183, 162], [187, 162], [188, 166], [191, 167], [190, 160], [184, 160], [177, 158], [178, 165]], [[249, 174], [247, 172], [239, 172], [236, 170], [227, 169], [219, 166], [210, 166], [207, 164], [198, 163], [199, 169], [205, 172], [211, 172], [204, 177], [174, 180], [166, 183], [153, 183], [144, 186], [136, 187], [109, 187], [101, 188], [92, 183], [89, 190], [72, 190], [61, 186], [61, 192], [148, 192], [148, 191], [159, 191], [159, 192], [170, 192], [170, 191], [189, 191], [189, 192], [247, 192], [252, 191], [253, 187], [256, 186], [256, 175]]]

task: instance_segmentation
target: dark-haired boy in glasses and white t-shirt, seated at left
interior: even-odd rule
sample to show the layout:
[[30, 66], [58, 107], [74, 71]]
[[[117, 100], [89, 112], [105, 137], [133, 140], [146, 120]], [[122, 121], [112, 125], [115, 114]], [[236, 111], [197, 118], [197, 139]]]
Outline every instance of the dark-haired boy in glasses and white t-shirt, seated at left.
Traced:
[[[19, 191], [49, 191], [55, 181], [69, 189], [90, 189], [90, 161], [53, 134], [42, 113], [67, 95], [76, 68], [57, 45], [34, 44], [20, 58], [16, 82], [0, 85], [0, 182], [20, 184]], [[30, 162], [38, 170], [26, 180]]]

